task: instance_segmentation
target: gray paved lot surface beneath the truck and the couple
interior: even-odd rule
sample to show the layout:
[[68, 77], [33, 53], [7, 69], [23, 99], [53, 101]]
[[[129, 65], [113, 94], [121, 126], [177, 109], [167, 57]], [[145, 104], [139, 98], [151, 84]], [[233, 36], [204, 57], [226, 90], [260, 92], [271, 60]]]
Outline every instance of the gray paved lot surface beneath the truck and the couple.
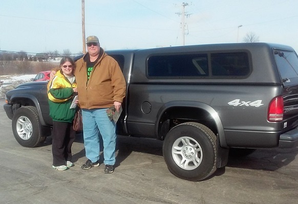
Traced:
[[[119, 136], [116, 169], [82, 170], [82, 136], [73, 144], [75, 166], [56, 171], [52, 138], [36, 148], [20, 146], [0, 99], [0, 203], [298, 203], [298, 148], [259, 149], [229, 157], [228, 165], [202, 182], [172, 175], [162, 142]], [[101, 155], [101, 162], [103, 158]]]

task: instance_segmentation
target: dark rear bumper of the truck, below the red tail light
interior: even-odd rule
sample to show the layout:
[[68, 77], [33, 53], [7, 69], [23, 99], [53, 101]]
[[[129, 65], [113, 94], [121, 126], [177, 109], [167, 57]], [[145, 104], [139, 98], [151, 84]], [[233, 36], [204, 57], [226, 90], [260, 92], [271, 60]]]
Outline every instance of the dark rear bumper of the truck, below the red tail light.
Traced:
[[280, 135], [279, 147], [292, 148], [298, 146], [298, 127]]

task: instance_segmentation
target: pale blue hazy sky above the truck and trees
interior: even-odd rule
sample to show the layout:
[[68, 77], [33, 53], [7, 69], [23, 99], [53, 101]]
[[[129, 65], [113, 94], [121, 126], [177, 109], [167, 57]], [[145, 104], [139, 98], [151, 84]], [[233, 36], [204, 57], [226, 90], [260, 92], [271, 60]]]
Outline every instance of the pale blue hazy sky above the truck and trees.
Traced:
[[[81, 53], [81, 6], [81, 0], [1, 0], [0, 50]], [[237, 43], [253, 33], [298, 52], [297, 0], [84, 0], [84, 12], [86, 37], [96, 35], [106, 50]]]

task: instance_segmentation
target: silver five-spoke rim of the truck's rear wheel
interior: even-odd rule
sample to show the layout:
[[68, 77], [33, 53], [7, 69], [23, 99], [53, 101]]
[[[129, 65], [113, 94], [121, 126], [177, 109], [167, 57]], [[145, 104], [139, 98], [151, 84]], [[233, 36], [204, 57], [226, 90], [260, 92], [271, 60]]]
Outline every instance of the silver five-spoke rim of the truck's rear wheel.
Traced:
[[203, 159], [200, 144], [191, 137], [180, 137], [172, 146], [172, 156], [176, 164], [185, 170], [197, 168]]

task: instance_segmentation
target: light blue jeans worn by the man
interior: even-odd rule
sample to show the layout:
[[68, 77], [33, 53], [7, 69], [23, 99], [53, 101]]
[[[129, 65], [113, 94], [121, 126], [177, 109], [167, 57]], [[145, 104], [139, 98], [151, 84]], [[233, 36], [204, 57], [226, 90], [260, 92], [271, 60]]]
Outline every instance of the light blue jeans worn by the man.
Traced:
[[84, 146], [86, 157], [93, 163], [98, 161], [100, 134], [103, 141], [104, 164], [114, 165], [116, 161], [116, 124], [109, 120], [106, 110], [107, 108], [82, 109]]

